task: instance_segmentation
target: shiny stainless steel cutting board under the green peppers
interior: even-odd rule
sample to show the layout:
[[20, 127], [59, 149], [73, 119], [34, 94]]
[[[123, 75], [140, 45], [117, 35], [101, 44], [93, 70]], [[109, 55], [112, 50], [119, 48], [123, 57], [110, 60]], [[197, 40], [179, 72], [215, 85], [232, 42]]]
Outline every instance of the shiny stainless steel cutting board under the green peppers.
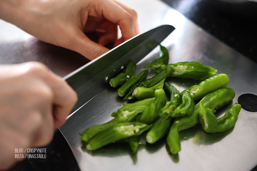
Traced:
[[[257, 65], [254, 62], [220, 42], [158, 0], [120, 1], [137, 11], [141, 32], [163, 24], [173, 25], [176, 28], [162, 42], [162, 45], [169, 50], [170, 63], [195, 60], [217, 68], [218, 74], [228, 74], [230, 77], [228, 87], [233, 88], [236, 92], [236, 97], [232, 103], [237, 102], [237, 98], [243, 93], [257, 94]], [[53, 46], [37, 41], [30, 36], [29, 38], [23, 36], [19, 40], [15, 39], [16, 34], [6, 33], [12, 29], [14, 32], [19, 32], [19, 30], [13, 28], [13, 26], [10, 26], [12, 29], [5, 29], [7, 25], [4, 22], [0, 24], [1, 63], [39, 60], [48, 64], [55, 73], [61, 76], [69, 74], [77, 69], [79, 65], [83, 65], [83, 62], [80, 63], [79, 60], [74, 60], [74, 58], [70, 61], [62, 61], [61, 58], [58, 58], [60, 55], [55, 50], [58, 49], [65, 56], [66, 50], [63, 48], [48, 49], [46, 47]], [[13, 38], [9, 39], [9, 37]], [[32, 48], [35, 46], [34, 42], [36, 47]], [[143, 61], [138, 63], [136, 72], [139, 72], [145, 63], [156, 58], [158, 52], [158, 48], [154, 49]], [[9, 60], [10, 58], [11, 60]], [[20, 60], [20, 58], [23, 60]], [[50, 61], [47, 60], [49, 58]], [[79, 65], [75, 63], [79, 63]], [[177, 79], [170, 80], [170, 83], [180, 90], [194, 84], [194, 82], [181, 82]], [[86, 113], [86, 119], [83, 123], [77, 125], [83, 124], [83, 128], [78, 130], [73, 137], [67, 136], [68, 141], [80, 137], [79, 133], [87, 127], [109, 121], [112, 118], [111, 113], [119, 109], [121, 107], [119, 105], [123, 105], [123, 102], [117, 95], [117, 89], [107, 87], [105, 91], [81, 108], [81, 111]], [[227, 108], [228, 106], [218, 111], [218, 115], [222, 115]], [[131, 154], [128, 146], [122, 144], [113, 144], [93, 152], [84, 151], [81, 144], [71, 144], [71, 146], [80, 166], [82, 166], [81, 170], [249, 171], [257, 164], [256, 123], [257, 113], [242, 109], [235, 127], [223, 134], [206, 134], [198, 126], [181, 131], [182, 150], [177, 156], [168, 154], [165, 139], [154, 145], [144, 145], [142, 140], [137, 154]]]

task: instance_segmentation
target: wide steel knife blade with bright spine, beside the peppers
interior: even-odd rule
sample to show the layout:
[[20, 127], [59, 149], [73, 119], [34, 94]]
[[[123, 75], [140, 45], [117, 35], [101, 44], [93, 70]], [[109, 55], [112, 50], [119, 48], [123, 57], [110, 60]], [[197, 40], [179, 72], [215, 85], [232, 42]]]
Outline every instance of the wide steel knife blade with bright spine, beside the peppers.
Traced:
[[109, 84], [109, 78], [117, 75], [121, 66], [130, 60], [141, 60], [174, 29], [171, 25], [162, 25], [135, 36], [65, 76], [63, 79], [78, 94], [78, 102], [71, 113], [105, 89], [106, 83]]

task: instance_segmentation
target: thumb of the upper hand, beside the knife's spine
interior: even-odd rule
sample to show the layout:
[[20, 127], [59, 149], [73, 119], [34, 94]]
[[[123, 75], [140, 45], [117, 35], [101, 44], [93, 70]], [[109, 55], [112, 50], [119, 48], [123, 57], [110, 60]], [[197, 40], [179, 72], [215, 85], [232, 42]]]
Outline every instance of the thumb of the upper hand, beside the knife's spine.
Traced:
[[78, 35], [75, 35], [74, 37], [74, 42], [71, 41], [69, 43], [70, 49], [82, 54], [89, 60], [93, 60], [110, 50], [101, 44], [90, 40], [81, 30]]

